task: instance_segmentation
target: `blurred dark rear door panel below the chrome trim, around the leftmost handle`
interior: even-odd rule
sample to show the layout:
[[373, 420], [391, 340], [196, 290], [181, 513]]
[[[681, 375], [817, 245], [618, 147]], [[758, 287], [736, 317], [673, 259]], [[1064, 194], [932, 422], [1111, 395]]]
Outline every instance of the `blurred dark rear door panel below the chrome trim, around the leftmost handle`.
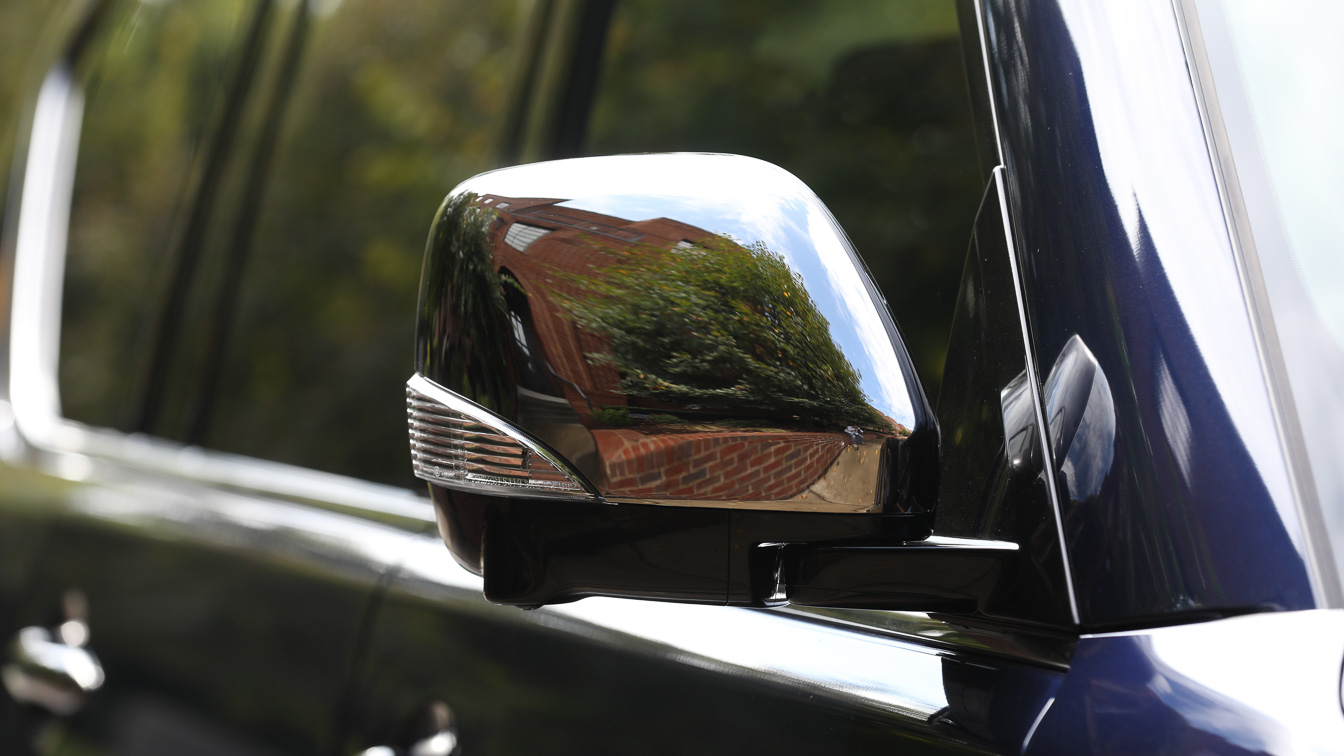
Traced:
[[7, 753], [34, 741], [94, 755], [333, 745], [388, 566], [378, 553], [395, 554], [405, 530], [118, 464], [78, 483], [51, 472], [4, 475], [0, 529], [40, 549], [3, 565], [23, 580], [4, 592], [5, 630], [59, 626], [79, 592], [106, 682], [69, 720], [11, 710]]

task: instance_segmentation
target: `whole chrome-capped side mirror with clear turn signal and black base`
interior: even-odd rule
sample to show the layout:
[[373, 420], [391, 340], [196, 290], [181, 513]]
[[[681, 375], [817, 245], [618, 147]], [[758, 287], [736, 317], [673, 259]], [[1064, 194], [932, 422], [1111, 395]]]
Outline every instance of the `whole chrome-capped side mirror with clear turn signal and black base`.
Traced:
[[934, 413], [844, 231], [767, 163], [589, 157], [454, 188], [407, 406], [445, 541], [493, 601], [974, 605], [856, 566], [980, 546], [913, 545]]

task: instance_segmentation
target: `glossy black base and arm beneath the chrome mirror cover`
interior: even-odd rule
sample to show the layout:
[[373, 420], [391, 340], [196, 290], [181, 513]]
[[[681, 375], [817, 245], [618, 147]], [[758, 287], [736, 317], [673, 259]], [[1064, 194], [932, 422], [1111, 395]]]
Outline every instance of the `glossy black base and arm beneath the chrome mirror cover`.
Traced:
[[[574, 504], [434, 491], [445, 538], [497, 604], [587, 596], [976, 612], [1017, 546], [929, 535], [925, 515]], [[461, 547], [466, 542], [478, 546]]]

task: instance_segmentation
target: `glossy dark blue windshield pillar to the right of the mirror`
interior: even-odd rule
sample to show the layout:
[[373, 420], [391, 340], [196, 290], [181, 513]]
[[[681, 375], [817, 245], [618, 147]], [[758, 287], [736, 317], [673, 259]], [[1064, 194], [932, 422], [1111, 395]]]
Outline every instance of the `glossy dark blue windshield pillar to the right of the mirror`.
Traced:
[[[1140, 19], [1133, 27], [1142, 30], [1140, 39], [1120, 44], [1134, 55], [1145, 54], [1140, 50], [1148, 44], [1150, 56], [1183, 61], [1169, 5], [1140, 4], [1132, 11]], [[1314, 605], [1294, 546], [1293, 503], [1274, 474], [1282, 461], [1273, 426], [1262, 425], [1259, 451], [1253, 453], [1230, 409], [1258, 410], [1267, 401], [1254, 351], [1239, 374], [1215, 374], [1222, 347], [1196, 340], [1191, 326], [1200, 308], [1245, 312], [1235, 261], [1230, 250], [1220, 253], [1226, 230], [1198, 235], [1199, 213], [1210, 203], [1218, 207], [1207, 153], [1193, 144], [1193, 155], [1172, 163], [1160, 149], [1161, 135], [1198, 130], [1198, 113], [1192, 106], [1159, 109], [1159, 97], [1124, 100], [1117, 85], [1132, 77], [1134, 86], [1184, 97], [1189, 87], [1184, 63], [1140, 69], [1126, 66], [1122, 56], [1081, 56], [1079, 50], [1114, 43], [1106, 38], [1101, 7], [1068, 16], [1052, 0], [1007, 0], [986, 3], [985, 12], [1038, 363], [1055, 363], [1073, 339], [1081, 339], [1111, 389], [1113, 457], [1101, 471], [1099, 487], [1083, 500], [1073, 499], [1060, 476], [1083, 624]], [[1134, 108], [1126, 110], [1128, 121], [1114, 120], [1117, 102]], [[1116, 135], [1134, 140], [1125, 164], [1141, 179], [1199, 187], [1203, 196], [1133, 192], [1116, 174], [1120, 159], [1103, 161], [1099, 140]], [[1157, 223], [1196, 231], [1187, 243], [1157, 246], [1149, 233]], [[1183, 291], [1185, 278], [1173, 278], [1169, 268], [1200, 256], [1212, 261], [1210, 274], [1231, 268], [1234, 284], [1211, 295]], [[1230, 339], [1250, 343], [1245, 320], [1222, 327]], [[1056, 472], [1063, 461], [1055, 459]]]

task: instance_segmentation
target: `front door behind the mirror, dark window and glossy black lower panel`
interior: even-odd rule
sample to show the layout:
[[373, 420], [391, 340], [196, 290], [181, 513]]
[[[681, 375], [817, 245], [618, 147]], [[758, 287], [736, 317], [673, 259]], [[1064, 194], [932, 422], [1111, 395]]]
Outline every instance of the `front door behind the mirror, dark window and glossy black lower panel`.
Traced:
[[[948, 496], [964, 515], [949, 530], [1030, 542], [1048, 527], [1052, 539], [1040, 471], [991, 474], [1005, 443], [1000, 389], [1023, 371], [1025, 346], [956, 9], [632, 1], [594, 3], [581, 20], [590, 26], [569, 32], [587, 40], [569, 44], [583, 50], [574, 78], [538, 93], [530, 113], [550, 136], [524, 143], [523, 157], [739, 152], [798, 174], [867, 256], [926, 383], [938, 385], [949, 350], [962, 355], [956, 367], [973, 355], [939, 404], [945, 428], [968, 430], [958, 472], [978, 474]], [[982, 66], [974, 12], [962, 22]], [[601, 66], [586, 58], [594, 39]], [[974, 93], [982, 75], [970, 73]], [[590, 109], [575, 113], [575, 101]], [[966, 304], [966, 287], [981, 304]], [[521, 612], [484, 604], [480, 580], [429, 534], [380, 601], [345, 745], [1017, 751], [1073, 648], [1060, 545], [1039, 554], [1013, 578], [1017, 600], [988, 621], [616, 599]]]

